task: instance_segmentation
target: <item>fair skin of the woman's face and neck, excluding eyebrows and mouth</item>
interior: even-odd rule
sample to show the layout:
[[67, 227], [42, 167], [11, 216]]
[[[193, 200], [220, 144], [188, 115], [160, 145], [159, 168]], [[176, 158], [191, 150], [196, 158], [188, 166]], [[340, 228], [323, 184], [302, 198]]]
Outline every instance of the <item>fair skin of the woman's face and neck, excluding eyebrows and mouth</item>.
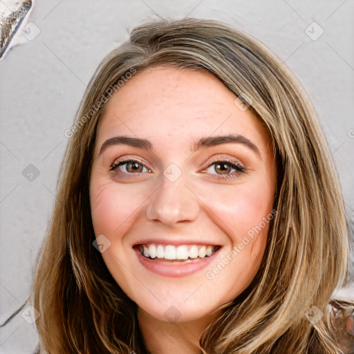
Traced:
[[[103, 234], [111, 242], [102, 257], [138, 304], [142, 335], [153, 354], [198, 353], [199, 336], [247, 288], [265, 252], [269, 223], [242, 250], [239, 243], [272, 212], [277, 172], [268, 134], [235, 98], [210, 73], [159, 66], [124, 84], [98, 124], [90, 178], [93, 228], [96, 237]], [[199, 138], [230, 133], [250, 140], [258, 153], [237, 142], [191, 149]], [[153, 150], [109, 145], [100, 151], [115, 136], [148, 139]], [[128, 165], [111, 171], [114, 162], [129, 158], [144, 162], [138, 172]], [[245, 172], [217, 167], [225, 158]], [[181, 172], [174, 182], [163, 174], [171, 163]], [[141, 265], [132, 248], [140, 237], [156, 234], [222, 247], [207, 268], [165, 277]], [[239, 252], [230, 257], [235, 248]], [[207, 271], [213, 274], [225, 258], [227, 265], [208, 279]], [[164, 315], [171, 306], [180, 315], [176, 323]]]

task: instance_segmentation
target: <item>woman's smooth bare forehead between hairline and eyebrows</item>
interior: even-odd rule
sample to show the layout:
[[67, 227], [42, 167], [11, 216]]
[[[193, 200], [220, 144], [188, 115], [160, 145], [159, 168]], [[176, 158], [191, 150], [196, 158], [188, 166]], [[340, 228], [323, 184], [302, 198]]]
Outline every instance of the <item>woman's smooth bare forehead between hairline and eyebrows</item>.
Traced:
[[250, 109], [241, 110], [235, 99], [207, 71], [151, 68], [134, 75], [106, 103], [97, 140], [119, 133], [190, 142], [201, 136], [237, 133], [268, 144], [261, 122]]

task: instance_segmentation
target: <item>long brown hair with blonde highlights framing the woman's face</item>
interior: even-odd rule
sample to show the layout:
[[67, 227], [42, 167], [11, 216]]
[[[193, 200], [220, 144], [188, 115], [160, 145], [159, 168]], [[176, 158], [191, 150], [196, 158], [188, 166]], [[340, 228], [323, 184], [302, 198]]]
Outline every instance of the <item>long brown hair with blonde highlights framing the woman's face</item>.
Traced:
[[[31, 296], [40, 313], [41, 353], [149, 353], [136, 303], [93, 247], [88, 185], [104, 103], [120, 82], [153, 66], [208, 71], [241, 95], [267, 129], [277, 162], [277, 213], [261, 267], [205, 329], [201, 353], [353, 353], [354, 337], [338, 326], [340, 313], [353, 304], [331, 300], [346, 281], [349, 226], [315, 111], [294, 75], [261, 42], [218, 21], [192, 18], [134, 28], [88, 84], [35, 269]], [[324, 316], [311, 323], [309, 309]]]

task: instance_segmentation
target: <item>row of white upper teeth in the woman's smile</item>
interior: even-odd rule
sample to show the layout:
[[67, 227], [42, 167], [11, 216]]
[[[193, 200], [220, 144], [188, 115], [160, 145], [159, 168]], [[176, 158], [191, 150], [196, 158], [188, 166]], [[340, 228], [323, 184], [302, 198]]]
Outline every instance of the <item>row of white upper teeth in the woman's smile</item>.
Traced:
[[139, 250], [145, 257], [165, 259], [195, 259], [210, 256], [215, 250], [213, 245], [140, 245]]

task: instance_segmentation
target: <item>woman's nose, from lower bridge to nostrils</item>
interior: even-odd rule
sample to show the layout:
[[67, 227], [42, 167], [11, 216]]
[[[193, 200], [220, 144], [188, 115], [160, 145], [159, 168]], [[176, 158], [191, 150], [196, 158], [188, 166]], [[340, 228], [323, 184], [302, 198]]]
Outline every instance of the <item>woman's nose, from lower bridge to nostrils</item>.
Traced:
[[181, 177], [171, 182], [162, 176], [161, 185], [150, 201], [146, 216], [151, 221], [174, 225], [180, 221], [195, 221], [198, 218], [198, 197], [185, 185]]

